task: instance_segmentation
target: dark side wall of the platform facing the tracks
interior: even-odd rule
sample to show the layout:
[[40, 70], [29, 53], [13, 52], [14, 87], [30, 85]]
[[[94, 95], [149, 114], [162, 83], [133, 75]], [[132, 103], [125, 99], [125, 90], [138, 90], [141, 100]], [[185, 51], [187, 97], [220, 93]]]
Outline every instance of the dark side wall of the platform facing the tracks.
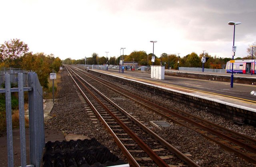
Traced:
[[230, 103], [221, 103], [218, 100], [210, 100], [209, 98], [204, 98], [202, 96], [192, 95], [190, 93], [185, 93], [181, 91], [175, 91], [171, 89], [163, 89], [158, 86], [144, 84], [141, 82], [136, 82], [132, 80], [128, 80], [126, 78], [120, 78], [117, 76], [104, 74], [96, 71], [90, 71], [95, 75], [98, 74], [101, 77], [106, 77], [108, 80], [113, 80], [115, 82], [120, 82], [121, 84], [127, 84], [132, 87], [136, 87], [138, 89], [142, 89], [148, 91], [150, 93], [160, 95], [166, 97], [168, 99], [172, 99], [178, 101], [180, 103], [185, 103], [186, 105], [196, 107], [198, 109], [202, 109], [208, 112], [216, 113], [218, 115], [222, 115], [226, 118], [236, 120], [242, 119], [244, 123], [248, 123], [251, 125], [256, 125], [256, 112], [250, 111], [250, 108], [244, 109], [236, 105], [232, 105]]

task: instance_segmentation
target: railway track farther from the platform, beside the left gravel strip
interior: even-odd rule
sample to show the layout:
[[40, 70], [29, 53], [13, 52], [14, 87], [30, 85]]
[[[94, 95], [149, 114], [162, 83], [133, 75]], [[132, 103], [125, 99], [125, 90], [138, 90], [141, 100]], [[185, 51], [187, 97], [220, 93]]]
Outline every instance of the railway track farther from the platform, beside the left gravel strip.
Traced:
[[[86, 111], [104, 123], [132, 166], [197, 166], [194, 161], [164, 141], [110, 99], [68, 68], [87, 101]], [[92, 116], [93, 117], [93, 116]]]

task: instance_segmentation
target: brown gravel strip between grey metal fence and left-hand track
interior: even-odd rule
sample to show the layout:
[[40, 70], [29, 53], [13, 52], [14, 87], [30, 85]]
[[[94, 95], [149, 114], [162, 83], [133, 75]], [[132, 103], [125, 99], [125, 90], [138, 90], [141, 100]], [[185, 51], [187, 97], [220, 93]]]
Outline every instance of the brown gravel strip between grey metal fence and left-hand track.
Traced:
[[86, 109], [78, 97], [78, 90], [74, 86], [73, 80], [65, 70], [62, 71], [62, 82], [58, 85], [58, 102], [54, 104], [50, 116], [52, 118], [45, 121], [45, 127], [64, 133], [83, 134], [90, 138], [96, 138], [102, 145], [126, 161], [121, 150], [116, 145], [113, 137], [97, 120], [91, 120], [86, 113]]

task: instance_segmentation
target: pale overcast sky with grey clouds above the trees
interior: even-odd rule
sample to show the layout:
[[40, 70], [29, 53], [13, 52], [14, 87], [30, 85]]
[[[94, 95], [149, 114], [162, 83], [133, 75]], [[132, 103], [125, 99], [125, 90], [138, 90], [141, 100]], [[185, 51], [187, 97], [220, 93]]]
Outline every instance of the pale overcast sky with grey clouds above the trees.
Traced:
[[[18, 38], [33, 53], [81, 59], [134, 50], [186, 56], [206, 50], [247, 56], [256, 41], [256, 0], [0, 0], [0, 44]], [[121, 53], [122, 54], [122, 53]]]

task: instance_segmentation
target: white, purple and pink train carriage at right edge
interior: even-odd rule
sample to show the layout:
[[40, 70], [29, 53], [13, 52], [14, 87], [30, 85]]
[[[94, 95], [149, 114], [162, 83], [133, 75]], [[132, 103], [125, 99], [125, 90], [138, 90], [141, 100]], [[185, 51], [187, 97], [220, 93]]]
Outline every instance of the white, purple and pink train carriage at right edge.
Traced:
[[[230, 63], [231, 61], [231, 63]], [[226, 73], [232, 73], [232, 60], [226, 64]], [[233, 60], [233, 73], [256, 74], [255, 60]]]

